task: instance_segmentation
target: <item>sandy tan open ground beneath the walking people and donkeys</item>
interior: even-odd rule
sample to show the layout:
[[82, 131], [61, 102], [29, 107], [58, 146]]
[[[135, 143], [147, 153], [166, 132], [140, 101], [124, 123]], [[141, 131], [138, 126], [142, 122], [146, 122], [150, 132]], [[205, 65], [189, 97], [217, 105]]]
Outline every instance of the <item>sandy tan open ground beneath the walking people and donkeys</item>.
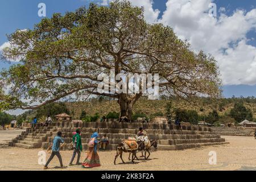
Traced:
[[[2, 139], [3, 133], [0, 132], [0, 136]], [[183, 151], [153, 151], [150, 159], [144, 160], [140, 158], [140, 160], [135, 161], [135, 164], [129, 162], [128, 154], [124, 154], [123, 159], [126, 163], [122, 164], [121, 159], [118, 158], [117, 165], [114, 165], [116, 152], [106, 151], [98, 152], [101, 167], [83, 169], [81, 166], [72, 166], [66, 169], [57, 169], [54, 167], [59, 166], [59, 161], [55, 157], [49, 164], [49, 170], [256, 170], [256, 140], [253, 137], [222, 137], [230, 143]], [[0, 171], [42, 170], [43, 166], [38, 164], [40, 151], [42, 149], [0, 148]], [[215, 165], [209, 164], [210, 151], [216, 152], [217, 164]], [[48, 159], [49, 154], [46, 154]], [[68, 166], [72, 151], [61, 151], [61, 155], [64, 165]], [[138, 156], [140, 155], [141, 153], [138, 153]], [[85, 151], [83, 151], [81, 162], [85, 159], [85, 156]]]

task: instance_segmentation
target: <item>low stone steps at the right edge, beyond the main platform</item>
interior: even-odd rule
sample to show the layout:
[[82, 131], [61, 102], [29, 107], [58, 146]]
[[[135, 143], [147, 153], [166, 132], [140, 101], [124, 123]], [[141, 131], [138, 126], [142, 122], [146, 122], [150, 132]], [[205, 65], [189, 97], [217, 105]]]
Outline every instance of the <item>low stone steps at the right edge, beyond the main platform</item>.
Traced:
[[219, 135], [253, 137], [254, 127], [212, 127], [212, 131]]

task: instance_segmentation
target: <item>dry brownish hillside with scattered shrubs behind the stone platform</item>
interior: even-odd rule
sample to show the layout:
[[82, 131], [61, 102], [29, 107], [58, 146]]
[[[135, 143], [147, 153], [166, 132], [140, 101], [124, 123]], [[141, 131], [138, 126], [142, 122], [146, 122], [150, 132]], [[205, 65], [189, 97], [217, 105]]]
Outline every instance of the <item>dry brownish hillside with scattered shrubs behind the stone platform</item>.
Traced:
[[[191, 100], [190, 102], [180, 99], [147, 100], [142, 98], [134, 105], [133, 113], [144, 113], [148, 117], [150, 114], [154, 113], [166, 113], [166, 105], [170, 101], [174, 108], [196, 110], [199, 115], [208, 114], [213, 109], [216, 109], [220, 116], [228, 114], [233, 108], [234, 103], [243, 102], [243, 105], [247, 109], [250, 109], [253, 113], [253, 117], [256, 118], [255, 98], [250, 98], [249, 100], [248, 98], [224, 98], [218, 101], [212, 101], [208, 98], [196, 98], [194, 101]], [[119, 112], [119, 105], [115, 100], [108, 101], [104, 99], [99, 101], [98, 98], [94, 98], [86, 102], [65, 102], [65, 104], [73, 119], [79, 119], [82, 110], [85, 110], [87, 115], [99, 113], [101, 117], [107, 115], [109, 112]], [[36, 111], [27, 111], [28, 118], [34, 117], [35, 114]]]

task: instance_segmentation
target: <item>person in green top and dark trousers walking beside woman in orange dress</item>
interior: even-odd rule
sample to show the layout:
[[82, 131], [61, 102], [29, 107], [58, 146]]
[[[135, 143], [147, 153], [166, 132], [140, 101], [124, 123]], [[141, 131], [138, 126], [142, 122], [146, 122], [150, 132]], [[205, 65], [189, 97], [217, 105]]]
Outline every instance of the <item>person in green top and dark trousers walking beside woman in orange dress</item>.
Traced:
[[76, 161], [76, 165], [80, 165], [79, 160], [80, 160], [80, 156], [81, 156], [81, 151], [82, 151], [82, 142], [81, 142], [81, 131], [79, 129], [76, 130], [76, 134], [73, 135], [73, 147], [74, 147], [74, 151], [73, 151], [73, 156], [71, 158], [71, 162], [69, 163], [69, 166], [73, 166], [73, 160], [76, 157], [77, 154], [77, 161]]

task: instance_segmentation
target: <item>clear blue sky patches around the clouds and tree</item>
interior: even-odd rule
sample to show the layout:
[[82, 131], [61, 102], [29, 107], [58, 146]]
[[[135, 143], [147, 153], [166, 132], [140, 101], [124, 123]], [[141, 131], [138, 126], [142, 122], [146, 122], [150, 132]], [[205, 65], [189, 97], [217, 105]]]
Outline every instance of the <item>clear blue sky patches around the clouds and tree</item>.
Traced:
[[[143, 1], [143, 0], [141, 0]], [[147, 0], [144, 0], [147, 1]], [[158, 0], [152, 3], [154, 10], [158, 9], [160, 11], [158, 18], [162, 18], [164, 11], [166, 11], [166, 2], [168, 0]], [[172, 1], [172, 0], [169, 0]], [[175, 1], [175, 0], [174, 0]], [[193, 1], [193, 0], [191, 0]], [[207, 0], [205, 0], [207, 1]], [[42, 18], [38, 16], [38, 4], [46, 3], [47, 6], [47, 17], [50, 17], [53, 13], [65, 13], [66, 11], [74, 11], [80, 6], [88, 6], [89, 2], [86, 0], [1, 0], [0, 1], [0, 46], [7, 42], [6, 34], [11, 34], [16, 29], [33, 28], [34, 24], [40, 22]], [[246, 1], [234, 1], [234, 0], [216, 0], [214, 1], [217, 5], [217, 9], [220, 7], [225, 7], [225, 14], [227, 16], [232, 16], [234, 11], [237, 9], [250, 11], [256, 9], [255, 0]], [[220, 13], [218, 13], [220, 16]], [[217, 17], [218, 18], [218, 17]], [[246, 32], [247, 46], [256, 47], [256, 31], [252, 29]], [[253, 40], [254, 39], [254, 40]], [[13, 63], [12, 63], [13, 64]], [[3, 63], [0, 61], [0, 69], [8, 68], [10, 64]], [[252, 82], [252, 81], [250, 81]], [[233, 82], [231, 82], [233, 83]], [[234, 96], [256, 96], [256, 85], [241, 83], [238, 85], [225, 84], [223, 87], [224, 96], [232, 97]], [[256, 83], [256, 81], [255, 81]]]

